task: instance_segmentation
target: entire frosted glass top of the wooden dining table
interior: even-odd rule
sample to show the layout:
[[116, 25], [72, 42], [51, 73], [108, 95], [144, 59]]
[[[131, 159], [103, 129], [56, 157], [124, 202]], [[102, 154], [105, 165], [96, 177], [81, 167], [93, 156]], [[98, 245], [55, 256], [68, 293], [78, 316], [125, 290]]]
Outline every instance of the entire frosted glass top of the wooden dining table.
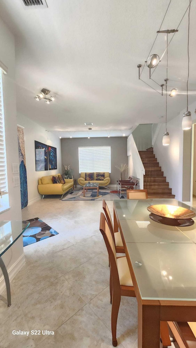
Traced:
[[149, 218], [149, 205], [176, 199], [114, 200], [142, 299], [196, 301], [196, 223], [173, 227]]

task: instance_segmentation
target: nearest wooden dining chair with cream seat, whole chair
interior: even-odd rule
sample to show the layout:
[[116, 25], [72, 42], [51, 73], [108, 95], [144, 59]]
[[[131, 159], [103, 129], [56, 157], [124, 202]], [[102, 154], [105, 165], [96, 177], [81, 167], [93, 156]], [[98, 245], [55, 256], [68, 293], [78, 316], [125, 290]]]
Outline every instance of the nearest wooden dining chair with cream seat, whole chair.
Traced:
[[120, 256], [117, 258], [111, 230], [103, 213], [101, 213], [100, 218], [100, 231], [107, 247], [110, 259], [110, 296], [112, 293], [112, 345], [116, 347], [118, 344], [116, 339], [116, 325], [121, 296], [135, 297], [135, 291], [127, 258], [126, 256]]

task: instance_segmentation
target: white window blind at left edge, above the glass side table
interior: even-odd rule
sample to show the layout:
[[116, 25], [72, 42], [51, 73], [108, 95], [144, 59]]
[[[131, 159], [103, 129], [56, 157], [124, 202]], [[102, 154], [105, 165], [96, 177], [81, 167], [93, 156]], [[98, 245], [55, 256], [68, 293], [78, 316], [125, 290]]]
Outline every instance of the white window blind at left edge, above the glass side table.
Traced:
[[5, 125], [3, 113], [3, 89], [2, 89], [2, 70], [0, 69], [0, 196], [8, 193], [7, 186], [7, 166], [6, 166], [6, 145], [5, 145]]

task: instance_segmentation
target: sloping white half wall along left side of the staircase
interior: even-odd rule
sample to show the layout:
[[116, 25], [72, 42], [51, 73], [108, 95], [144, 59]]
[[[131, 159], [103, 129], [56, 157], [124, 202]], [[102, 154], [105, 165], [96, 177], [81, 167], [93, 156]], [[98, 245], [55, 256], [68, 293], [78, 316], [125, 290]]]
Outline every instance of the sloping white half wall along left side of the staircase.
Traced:
[[127, 156], [132, 156], [135, 171], [134, 175], [139, 179], [139, 188], [143, 190], [143, 176], [145, 175], [145, 169], [132, 134], [127, 139]]

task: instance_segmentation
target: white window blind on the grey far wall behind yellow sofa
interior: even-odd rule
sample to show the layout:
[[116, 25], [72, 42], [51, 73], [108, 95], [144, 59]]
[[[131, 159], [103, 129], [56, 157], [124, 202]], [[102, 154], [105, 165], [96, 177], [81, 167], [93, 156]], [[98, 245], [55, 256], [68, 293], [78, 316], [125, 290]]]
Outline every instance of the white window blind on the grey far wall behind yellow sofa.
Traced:
[[79, 147], [79, 173], [109, 172], [111, 173], [111, 147], [92, 146]]

